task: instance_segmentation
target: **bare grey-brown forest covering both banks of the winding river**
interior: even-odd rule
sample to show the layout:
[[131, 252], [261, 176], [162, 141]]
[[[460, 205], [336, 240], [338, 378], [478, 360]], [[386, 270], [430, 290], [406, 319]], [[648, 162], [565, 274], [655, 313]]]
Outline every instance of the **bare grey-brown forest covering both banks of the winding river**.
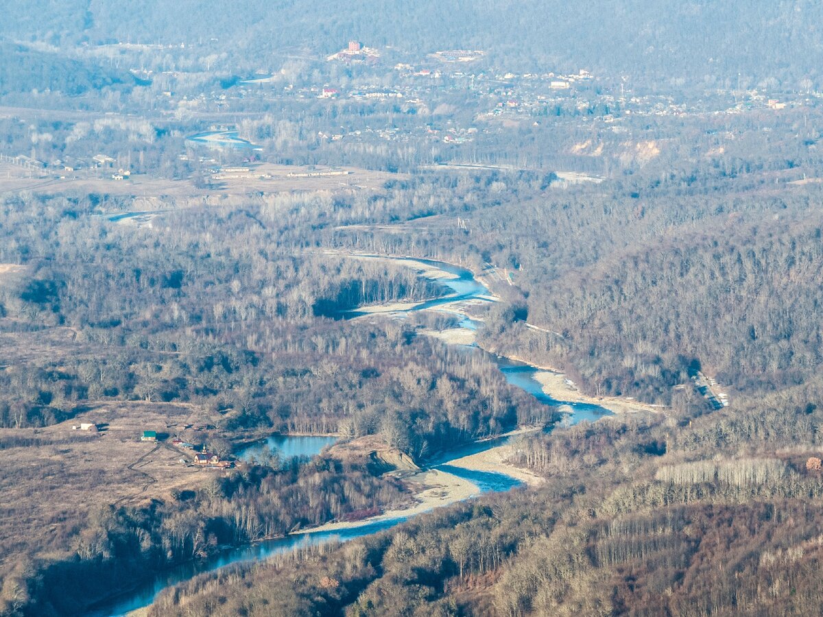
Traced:
[[[717, 182], [732, 191], [751, 179]], [[483, 196], [495, 183], [502, 186], [489, 201]], [[639, 183], [633, 179], [631, 186]], [[699, 571], [701, 559], [718, 559], [717, 552], [704, 554], [695, 538], [718, 534], [718, 541], [729, 542], [728, 550], [738, 550], [735, 542], [760, 540], [732, 540], [728, 525], [736, 529], [738, 521], [760, 521], [751, 533], [769, 537], [766, 547], [775, 557], [755, 563], [742, 554], [738, 572], [764, 568], [746, 575], [752, 581], [779, 578], [779, 567], [772, 571], [770, 564], [779, 564], [780, 555], [798, 542], [811, 541], [811, 514], [807, 525], [793, 527], [788, 536], [769, 525], [774, 520], [779, 527], [785, 520], [773, 517], [774, 508], [792, 517], [797, 499], [813, 502], [821, 494], [819, 478], [806, 471], [802, 455], [820, 445], [819, 320], [813, 319], [820, 285], [809, 284], [819, 269], [819, 225], [812, 206], [817, 190], [811, 185], [796, 195], [736, 200], [721, 190], [706, 193], [669, 179], [642, 199], [642, 216], [625, 216], [639, 211], [639, 199], [618, 201], [625, 191], [619, 185], [605, 194], [571, 193], [546, 188], [528, 173], [423, 174], [386, 183], [368, 205], [358, 197], [328, 200], [319, 194], [249, 197], [243, 205], [207, 209], [184, 202], [151, 227], [93, 216], [119, 211], [117, 199], [8, 197], [0, 261], [18, 267], [0, 286], [3, 336], [25, 341], [66, 329], [87, 351], [23, 360], [17, 346], [4, 346], [3, 423], [41, 427], [92, 402], [181, 401], [217, 411], [218, 428], [230, 434], [256, 429], [377, 434], [425, 461], [451, 443], [547, 422], [553, 411], [509, 387], [482, 355], [458, 353], [419, 336], [413, 322], [337, 321], [339, 311], [361, 303], [425, 299], [444, 290], [413, 270], [328, 255], [323, 248], [440, 257], [477, 271], [496, 264], [511, 273], [510, 284], [495, 286], [504, 301], [483, 313], [482, 346], [559, 364], [594, 393], [663, 401], [673, 415], [601, 420], [523, 441], [512, 462], [546, 476], [546, 487], [408, 523], [412, 530], [434, 526], [430, 534], [438, 540], [428, 549], [401, 540], [408, 534], [423, 541], [422, 531], [401, 531], [365, 540], [362, 554], [368, 557], [355, 558], [348, 551], [356, 549], [344, 548], [286, 559], [276, 571], [213, 575], [239, 577], [227, 579], [234, 582], [263, 577], [248, 584], [264, 593], [268, 583], [261, 581], [271, 577], [309, 580], [311, 559], [320, 559], [323, 577], [337, 581], [318, 583], [321, 591], [290, 584], [295, 596], [263, 596], [265, 608], [254, 609], [248, 598], [215, 591], [206, 576], [187, 591], [164, 597], [157, 610], [165, 614], [178, 604], [205, 602], [210, 610], [224, 607], [225, 614], [240, 605], [252, 614], [270, 614], [272, 605], [286, 603], [284, 615], [294, 610], [387, 614], [395, 607], [407, 614], [422, 602], [435, 602], [447, 615], [609, 614], [626, 606], [677, 614], [697, 598], [708, 601], [708, 583], [697, 573], [687, 575], [689, 568]], [[447, 193], [453, 197], [440, 202]], [[681, 207], [672, 209], [671, 200]], [[417, 216], [409, 203], [428, 208], [429, 216]], [[467, 229], [449, 224], [456, 216], [468, 220]], [[384, 227], [364, 230], [364, 220]], [[412, 225], [439, 225], [439, 233], [421, 237]], [[735, 295], [728, 293], [732, 286]], [[690, 318], [697, 314], [700, 321]], [[737, 347], [730, 349], [730, 342]], [[728, 380], [735, 392], [751, 392], [751, 398], [741, 397], [733, 411], [706, 414], [702, 399], [683, 385], [695, 366]], [[770, 391], [776, 392], [754, 396]], [[196, 554], [193, 540], [181, 540], [161, 557], [157, 547], [170, 540], [160, 536], [149, 536], [139, 554], [123, 557], [116, 548], [117, 538], [139, 536], [144, 524], [162, 527], [163, 521], [183, 516], [179, 512], [211, 521], [202, 541], [216, 546], [406, 499], [401, 489], [365, 469], [317, 464], [328, 466], [323, 473], [330, 474], [329, 487], [343, 474], [358, 488], [334, 500], [341, 505], [313, 508], [306, 518], [300, 474], [315, 472], [294, 467], [254, 472], [244, 480], [251, 482], [244, 489], [248, 503], [227, 485], [220, 506], [225, 510], [198, 498], [109, 513], [121, 530], [107, 536], [114, 545], [78, 552], [84, 537], [99, 544], [100, 532], [85, 524], [67, 529], [61, 536], [65, 542], [55, 548], [73, 546], [76, 557], [50, 565], [35, 559], [10, 573], [9, 581], [30, 582], [9, 583], [26, 591], [9, 591], [8, 606], [26, 605], [26, 598], [35, 602], [32, 610], [53, 603], [47, 587], [35, 580], [77, 580], [107, 567], [111, 555], [151, 568]], [[255, 501], [263, 485], [265, 507]], [[322, 492], [332, 499], [331, 490]], [[272, 494], [285, 501], [272, 501]], [[235, 527], [252, 524], [248, 517], [235, 517], [237, 508], [249, 503], [257, 536]], [[537, 508], [542, 514], [535, 520], [537, 503], [543, 504]], [[275, 510], [267, 508], [281, 514], [270, 516]], [[574, 529], [580, 520], [586, 521], [583, 531]], [[625, 528], [609, 527], [613, 520], [625, 521]], [[532, 531], [521, 529], [527, 524]], [[649, 536], [644, 531], [649, 526], [662, 531]], [[689, 536], [683, 528], [699, 531]], [[478, 536], [494, 540], [478, 544]], [[415, 562], [395, 555], [399, 545], [386, 548], [395, 541], [411, 542], [403, 550], [432, 561], [423, 569], [410, 565]], [[472, 547], [464, 557], [461, 543]], [[570, 546], [579, 546], [579, 553], [570, 553]], [[650, 559], [659, 559], [660, 567], [651, 568]], [[559, 569], [547, 572], [546, 564]], [[805, 576], [805, 570], [792, 572]], [[594, 587], [611, 590], [612, 579], [616, 591], [591, 593]], [[618, 585], [618, 579], [624, 582]], [[626, 580], [632, 581], [629, 587]], [[692, 581], [689, 587], [686, 580]], [[777, 586], [774, 601], [785, 602], [780, 590], [787, 582], [770, 584]], [[644, 591], [669, 588], [667, 608], [655, 604], [657, 592]], [[212, 601], [211, 593], [225, 599]], [[739, 601], [763, 606], [757, 593], [752, 589]], [[51, 605], [62, 613], [79, 601]], [[802, 603], [813, 596], [796, 601], [794, 610], [802, 612]], [[729, 596], [710, 602], [716, 605], [703, 610], [732, 606]]]

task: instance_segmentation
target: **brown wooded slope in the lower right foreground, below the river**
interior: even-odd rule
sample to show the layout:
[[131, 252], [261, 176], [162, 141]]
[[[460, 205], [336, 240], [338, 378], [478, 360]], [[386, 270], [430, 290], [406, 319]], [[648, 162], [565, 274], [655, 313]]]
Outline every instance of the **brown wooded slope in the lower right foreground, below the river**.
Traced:
[[536, 492], [204, 575], [151, 614], [814, 614], [823, 416], [807, 401], [819, 383], [691, 421], [556, 429], [515, 459], [545, 475]]

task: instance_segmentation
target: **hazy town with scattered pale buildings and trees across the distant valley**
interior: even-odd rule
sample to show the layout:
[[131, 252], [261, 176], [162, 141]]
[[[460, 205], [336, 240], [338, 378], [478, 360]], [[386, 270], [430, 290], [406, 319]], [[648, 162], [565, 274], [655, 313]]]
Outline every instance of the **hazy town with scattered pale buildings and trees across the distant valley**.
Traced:
[[[188, 48], [177, 47], [173, 53], [180, 49]], [[62, 129], [28, 128], [30, 135], [23, 139], [21, 134], [20, 147], [0, 152], [0, 175], [5, 171], [8, 179], [55, 183], [93, 180], [100, 188], [146, 183], [146, 174], [221, 183], [267, 179], [266, 172], [244, 169], [253, 160], [330, 164], [333, 169], [378, 153], [384, 153], [381, 166], [390, 171], [471, 161], [602, 174], [611, 161], [625, 166], [657, 157], [661, 141], [653, 140], [659, 135], [653, 128], [658, 123], [706, 118], [717, 123], [739, 118], [734, 122], [740, 123], [751, 115], [767, 131], [786, 114], [811, 109], [821, 98], [811, 87], [770, 90], [765, 84], [707, 91], [697, 98], [674, 88], [670, 94], [653, 91], [629, 76], [596, 74], [585, 67], [501, 70], [488, 50], [435, 49], [421, 55], [354, 39], [328, 56], [305, 50], [295, 60], [300, 71], [261, 67], [248, 78], [238, 76], [203, 90], [188, 86], [195, 73], [158, 74], [130, 66], [130, 58], [136, 62], [142, 56], [133, 45], [117, 50], [124, 67], [162, 88], [151, 116], [138, 121], [105, 114], [64, 135]], [[151, 49], [141, 53], [146, 51]], [[279, 111], [249, 115], [263, 109]], [[235, 114], [235, 121], [226, 122], [227, 114]], [[100, 133], [100, 149], [77, 149], [72, 136], [92, 129]], [[736, 139], [735, 131], [718, 132], [706, 138], [706, 151], [723, 154], [725, 144]], [[528, 146], [517, 160], [501, 156], [497, 148], [511, 140]], [[644, 144], [650, 141], [656, 145], [649, 149]], [[586, 143], [591, 146], [581, 146]], [[142, 144], [151, 144], [153, 160], [140, 152]]]

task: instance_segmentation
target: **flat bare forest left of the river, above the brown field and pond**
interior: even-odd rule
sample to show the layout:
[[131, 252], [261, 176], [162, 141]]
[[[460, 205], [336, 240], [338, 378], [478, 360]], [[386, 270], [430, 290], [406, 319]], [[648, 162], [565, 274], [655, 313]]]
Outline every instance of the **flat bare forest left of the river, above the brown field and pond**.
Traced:
[[[311, 205], [180, 211], [157, 235], [63, 198], [6, 202], [0, 261], [29, 269], [0, 287], [5, 332], [70, 328], [107, 353], [3, 358], [12, 368], [0, 375], [2, 425], [51, 424], [86, 401], [195, 401], [220, 410], [226, 429], [381, 432], [420, 458], [551, 418], [481, 356], [408, 326], [335, 324], [328, 313], [443, 290], [408, 268], [303, 252], [305, 234], [295, 230], [291, 244], [289, 225], [272, 221], [297, 225]], [[43, 212], [36, 227], [33, 207]]]

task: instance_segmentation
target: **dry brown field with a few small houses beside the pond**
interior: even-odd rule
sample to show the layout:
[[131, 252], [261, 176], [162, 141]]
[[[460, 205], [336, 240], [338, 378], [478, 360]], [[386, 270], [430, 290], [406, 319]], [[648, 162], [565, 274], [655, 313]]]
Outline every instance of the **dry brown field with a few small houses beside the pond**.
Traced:
[[[181, 463], [193, 455], [170, 443], [140, 440], [144, 430], [174, 434], [206, 417], [184, 404], [106, 402], [44, 429], [0, 429], [3, 566], [21, 554], [57, 557], [60, 539], [109, 505], [173, 499], [226, 473]], [[81, 423], [99, 431], [72, 429]]]

